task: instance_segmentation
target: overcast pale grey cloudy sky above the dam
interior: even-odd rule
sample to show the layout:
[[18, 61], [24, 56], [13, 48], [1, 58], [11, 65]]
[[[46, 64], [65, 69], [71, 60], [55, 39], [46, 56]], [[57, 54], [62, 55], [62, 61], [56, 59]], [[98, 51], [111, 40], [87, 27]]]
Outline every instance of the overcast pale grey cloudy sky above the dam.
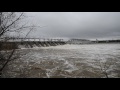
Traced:
[[120, 38], [120, 12], [26, 12], [37, 26], [31, 37]]

